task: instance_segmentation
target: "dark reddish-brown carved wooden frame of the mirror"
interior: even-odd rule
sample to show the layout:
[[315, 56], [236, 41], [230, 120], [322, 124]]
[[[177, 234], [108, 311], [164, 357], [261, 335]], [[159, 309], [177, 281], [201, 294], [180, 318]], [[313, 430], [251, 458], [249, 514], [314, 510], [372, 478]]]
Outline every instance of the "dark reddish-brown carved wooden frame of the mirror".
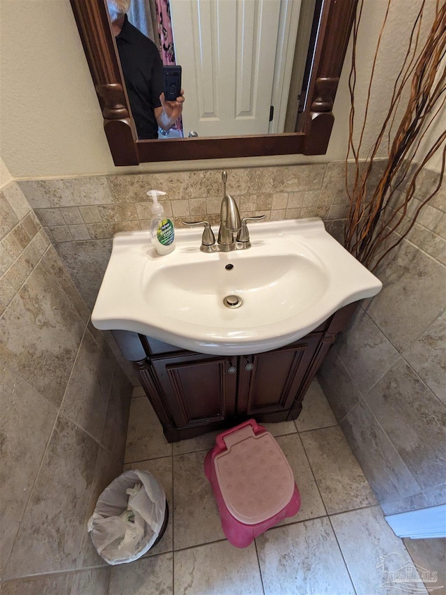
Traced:
[[[155, 161], [323, 155], [334, 116], [332, 107], [357, 0], [325, 0], [312, 54], [307, 98], [295, 133], [244, 137], [138, 140], [104, 0], [70, 0], [84, 45], [115, 165]], [[186, 144], [185, 144], [186, 143]]]

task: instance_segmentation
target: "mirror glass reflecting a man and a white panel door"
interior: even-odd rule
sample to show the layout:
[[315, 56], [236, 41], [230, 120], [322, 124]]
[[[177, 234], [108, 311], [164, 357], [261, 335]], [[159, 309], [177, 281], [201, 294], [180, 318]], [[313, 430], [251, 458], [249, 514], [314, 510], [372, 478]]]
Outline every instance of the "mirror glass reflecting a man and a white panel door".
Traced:
[[[139, 139], [294, 132], [320, 5], [107, 0]], [[181, 65], [184, 106], [160, 100], [162, 63]]]

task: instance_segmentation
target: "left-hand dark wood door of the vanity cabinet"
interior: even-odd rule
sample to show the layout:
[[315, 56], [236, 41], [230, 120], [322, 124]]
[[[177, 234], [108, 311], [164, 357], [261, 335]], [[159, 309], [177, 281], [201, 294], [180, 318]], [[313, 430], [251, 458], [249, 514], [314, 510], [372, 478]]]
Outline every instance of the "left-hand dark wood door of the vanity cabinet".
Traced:
[[191, 353], [151, 359], [163, 400], [178, 430], [223, 423], [235, 415], [236, 361]]

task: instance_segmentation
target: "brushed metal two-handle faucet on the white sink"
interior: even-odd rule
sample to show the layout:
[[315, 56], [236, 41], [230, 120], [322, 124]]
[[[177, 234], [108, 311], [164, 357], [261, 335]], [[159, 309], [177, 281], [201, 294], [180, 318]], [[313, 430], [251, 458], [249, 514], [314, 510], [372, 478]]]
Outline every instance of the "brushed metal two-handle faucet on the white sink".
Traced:
[[[240, 220], [240, 213], [238, 206], [233, 197], [226, 194], [226, 181], [228, 174], [222, 172], [223, 180], [223, 199], [220, 206], [220, 229], [218, 230], [217, 245], [215, 244], [215, 235], [210, 229], [208, 221], [194, 221], [187, 223], [183, 221], [184, 225], [204, 225], [203, 237], [201, 238], [201, 252], [231, 252], [231, 250], [246, 250], [251, 247], [249, 241], [249, 232], [246, 225], [247, 221], [254, 221], [264, 219], [266, 215], [259, 215], [256, 217], [245, 217]], [[235, 236], [235, 234], [237, 234]], [[235, 237], [234, 237], [235, 236]]]

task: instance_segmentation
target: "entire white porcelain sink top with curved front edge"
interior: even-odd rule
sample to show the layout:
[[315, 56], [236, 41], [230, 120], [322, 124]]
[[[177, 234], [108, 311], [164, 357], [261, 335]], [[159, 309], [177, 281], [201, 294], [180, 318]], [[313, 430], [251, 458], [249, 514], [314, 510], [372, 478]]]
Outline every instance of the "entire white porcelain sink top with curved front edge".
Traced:
[[[282, 347], [380, 281], [325, 231], [320, 219], [256, 223], [252, 248], [201, 253], [201, 232], [176, 230], [158, 256], [148, 232], [118, 234], [91, 316], [98, 329], [135, 331], [210, 354]], [[241, 299], [229, 308], [226, 296]]]

